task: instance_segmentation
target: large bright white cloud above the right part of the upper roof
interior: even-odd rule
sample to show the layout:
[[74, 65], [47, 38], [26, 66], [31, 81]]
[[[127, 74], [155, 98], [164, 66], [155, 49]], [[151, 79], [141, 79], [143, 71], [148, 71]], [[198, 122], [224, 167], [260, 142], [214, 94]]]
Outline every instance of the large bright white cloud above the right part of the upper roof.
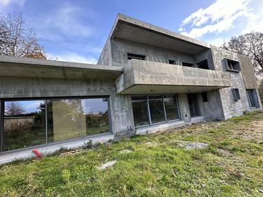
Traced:
[[180, 30], [186, 36], [201, 38], [207, 33], [220, 33], [233, 27], [233, 22], [240, 16], [247, 16], [251, 11], [248, 8], [250, 0], [217, 0], [208, 8], [201, 8], [187, 16], [181, 23]]

